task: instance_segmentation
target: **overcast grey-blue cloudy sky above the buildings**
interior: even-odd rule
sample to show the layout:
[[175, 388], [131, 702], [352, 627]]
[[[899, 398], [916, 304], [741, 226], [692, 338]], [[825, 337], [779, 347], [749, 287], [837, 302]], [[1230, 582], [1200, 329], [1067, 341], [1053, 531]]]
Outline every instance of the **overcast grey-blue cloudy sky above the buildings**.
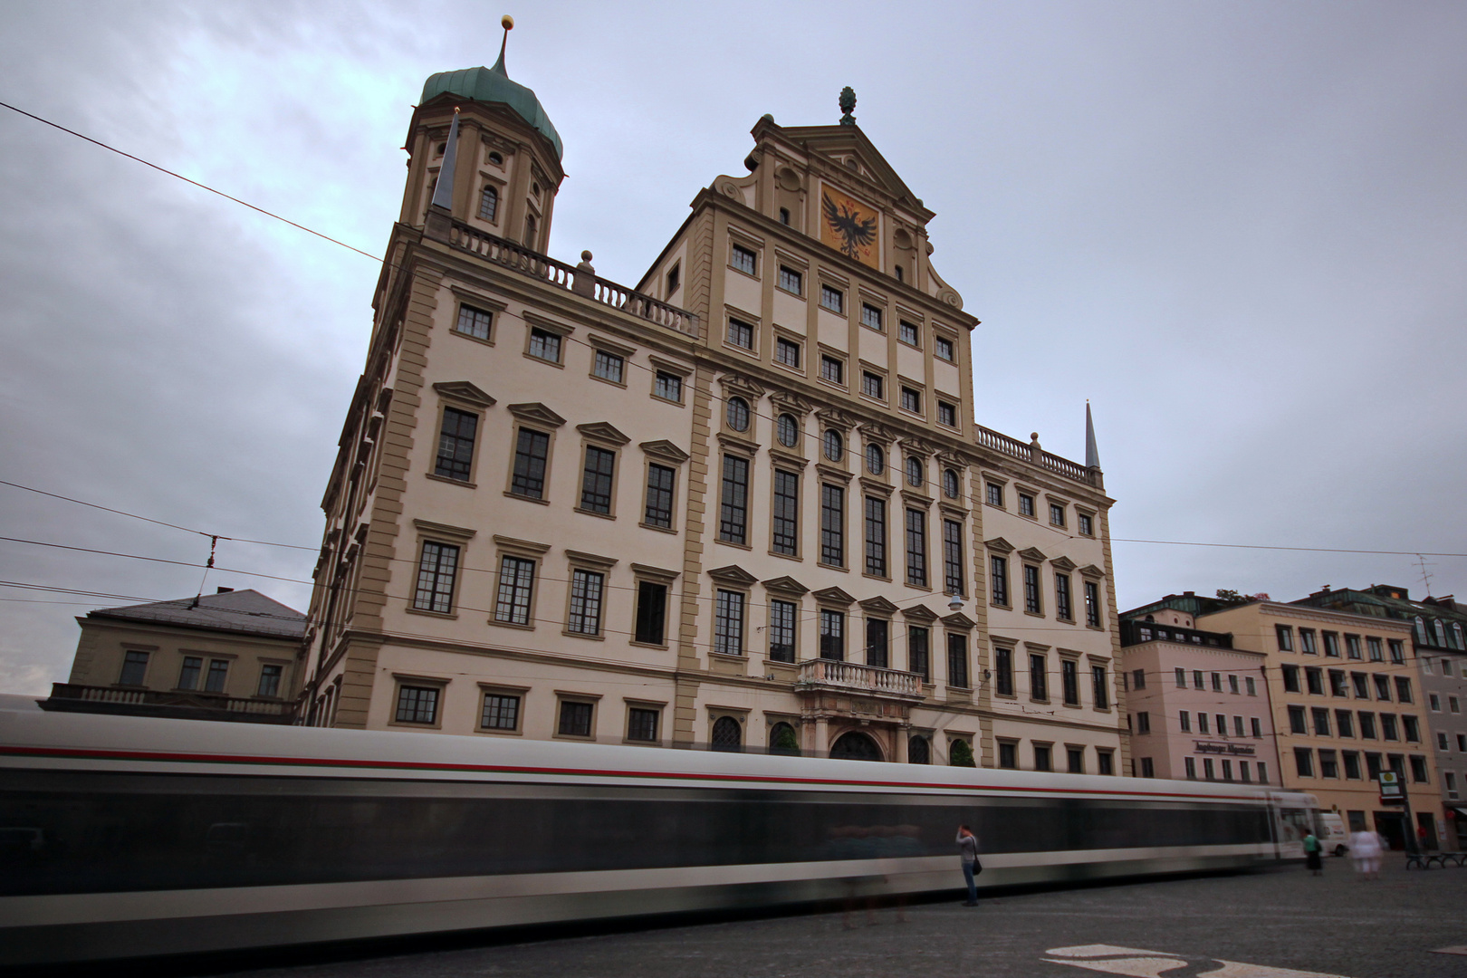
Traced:
[[[26, 3], [0, 101], [381, 254], [433, 72], [535, 89], [552, 255], [635, 284], [748, 130], [855, 116], [983, 320], [980, 424], [1084, 457], [1121, 607], [1401, 584], [1467, 553], [1467, 4]], [[305, 610], [378, 267], [0, 109], [0, 479], [222, 541]], [[0, 535], [201, 563], [202, 537], [0, 485]], [[1427, 559], [1432, 592], [1467, 560]], [[0, 579], [145, 600], [192, 566], [0, 543]], [[0, 691], [91, 607], [0, 587]]]

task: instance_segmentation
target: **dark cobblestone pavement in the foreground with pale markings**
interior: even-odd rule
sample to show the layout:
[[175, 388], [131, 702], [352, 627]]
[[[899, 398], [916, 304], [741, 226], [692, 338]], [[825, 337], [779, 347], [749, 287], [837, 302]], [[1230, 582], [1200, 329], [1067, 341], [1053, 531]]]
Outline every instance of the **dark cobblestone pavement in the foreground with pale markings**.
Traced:
[[[1394, 862], [1394, 861], [1392, 861]], [[474, 947], [317, 960], [249, 978], [779, 978], [974, 975], [1086, 978], [1436, 978], [1467, 975], [1467, 869], [1356, 880], [1344, 859], [1081, 890], [1006, 894], [977, 909], [893, 908], [725, 919], [619, 933], [509, 938]], [[1087, 946], [1108, 947], [1087, 947]], [[1067, 949], [1067, 950], [1059, 950]], [[1064, 957], [1075, 963], [1061, 963]], [[1226, 965], [1225, 962], [1235, 962]]]

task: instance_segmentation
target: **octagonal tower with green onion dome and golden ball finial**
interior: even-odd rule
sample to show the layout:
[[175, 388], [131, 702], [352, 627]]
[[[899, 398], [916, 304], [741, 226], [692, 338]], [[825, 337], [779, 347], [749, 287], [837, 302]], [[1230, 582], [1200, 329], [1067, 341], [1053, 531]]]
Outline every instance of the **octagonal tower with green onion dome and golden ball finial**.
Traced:
[[509, 78], [505, 50], [515, 22], [505, 16], [502, 23], [493, 67], [439, 72], [424, 82], [405, 142], [399, 220], [422, 227], [430, 204], [439, 204], [452, 220], [544, 252], [565, 179], [563, 144], [534, 91]]

